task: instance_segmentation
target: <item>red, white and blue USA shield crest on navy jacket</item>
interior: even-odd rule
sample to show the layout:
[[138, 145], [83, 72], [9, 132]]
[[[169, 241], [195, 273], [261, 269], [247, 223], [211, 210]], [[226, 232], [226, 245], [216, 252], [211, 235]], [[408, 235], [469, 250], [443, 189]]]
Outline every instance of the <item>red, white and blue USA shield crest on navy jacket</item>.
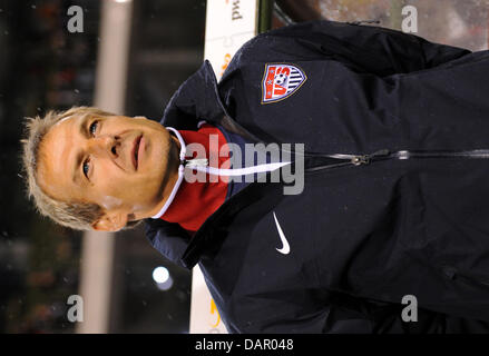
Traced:
[[301, 88], [306, 79], [304, 71], [296, 66], [266, 63], [262, 79], [262, 103], [288, 98]]

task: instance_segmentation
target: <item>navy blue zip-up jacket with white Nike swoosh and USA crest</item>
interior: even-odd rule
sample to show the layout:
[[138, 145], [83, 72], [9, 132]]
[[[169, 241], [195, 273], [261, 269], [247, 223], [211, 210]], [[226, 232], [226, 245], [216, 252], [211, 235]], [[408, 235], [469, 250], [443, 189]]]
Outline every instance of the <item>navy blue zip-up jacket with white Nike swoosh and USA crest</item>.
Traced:
[[[300, 77], [276, 100], [271, 66]], [[250, 184], [192, 239], [147, 221], [165, 257], [199, 264], [231, 333], [489, 330], [489, 51], [302, 22], [246, 42], [219, 82], [205, 61], [162, 123], [202, 119], [305, 145], [300, 195]], [[418, 323], [401, 319], [407, 295]]]

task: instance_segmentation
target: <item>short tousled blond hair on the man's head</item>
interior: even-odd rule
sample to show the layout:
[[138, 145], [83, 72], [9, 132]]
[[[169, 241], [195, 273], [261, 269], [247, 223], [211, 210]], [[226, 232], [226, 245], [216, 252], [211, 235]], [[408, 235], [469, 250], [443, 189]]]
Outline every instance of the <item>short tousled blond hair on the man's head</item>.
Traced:
[[[27, 194], [33, 198], [37, 210], [50, 217], [56, 222], [77, 230], [91, 230], [92, 225], [104, 216], [104, 209], [94, 202], [60, 201], [41, 189], [38, 182], [37, 169], [39, 164], [39, 148], [46, 134], [62, 119], [86, 116], [114, 116], [114, 113], [94, 107], [72, 107], [66, 111], [50, 110], [43, 118], [26, 118], [25, 138], [22, 144], [22, 164]], [[128, 224], [135, 226], [134, 221]]]

